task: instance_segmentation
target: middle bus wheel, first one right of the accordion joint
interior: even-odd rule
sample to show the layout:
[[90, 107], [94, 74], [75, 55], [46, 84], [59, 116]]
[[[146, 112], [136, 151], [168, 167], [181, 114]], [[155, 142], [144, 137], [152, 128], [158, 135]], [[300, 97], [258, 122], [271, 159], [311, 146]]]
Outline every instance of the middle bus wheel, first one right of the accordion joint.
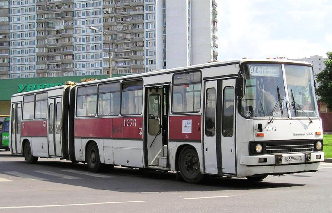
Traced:
[[99, 150], [96, 143], [90, 143], [86, 152], [86, 163], [90, 172], [101, 172], [102, 164], [100, 163]]

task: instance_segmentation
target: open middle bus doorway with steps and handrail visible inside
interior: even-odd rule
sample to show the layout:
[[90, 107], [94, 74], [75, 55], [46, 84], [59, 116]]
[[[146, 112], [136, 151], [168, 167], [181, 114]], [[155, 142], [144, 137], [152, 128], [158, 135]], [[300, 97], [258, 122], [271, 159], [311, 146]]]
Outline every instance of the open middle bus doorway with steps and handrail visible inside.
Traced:
[[167, 167], [169, 85], [145, 88], [145, 165]]

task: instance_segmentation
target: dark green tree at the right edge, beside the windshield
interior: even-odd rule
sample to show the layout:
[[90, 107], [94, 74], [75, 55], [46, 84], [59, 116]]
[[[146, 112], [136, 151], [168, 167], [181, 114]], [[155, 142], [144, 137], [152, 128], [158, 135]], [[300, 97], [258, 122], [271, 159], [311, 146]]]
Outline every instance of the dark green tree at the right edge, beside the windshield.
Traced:
[[318, 101], [326, 103], [330, 111], [332, 111], [332, 52], [326, 53], [328, 59], [323, 63], [326, 68], [316, 74], [316, 81], [319, 86], [316, 88]]

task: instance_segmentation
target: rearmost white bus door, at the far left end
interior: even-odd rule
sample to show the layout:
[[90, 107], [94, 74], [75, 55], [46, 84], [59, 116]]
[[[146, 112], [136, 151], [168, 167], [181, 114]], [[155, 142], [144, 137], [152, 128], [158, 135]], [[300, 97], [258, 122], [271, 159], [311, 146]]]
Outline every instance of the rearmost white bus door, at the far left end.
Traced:
[[12, 133], [11, 133], [11, 150], [12, 153], [21, 154], [21, 110], [22, 103], [12, 105]]

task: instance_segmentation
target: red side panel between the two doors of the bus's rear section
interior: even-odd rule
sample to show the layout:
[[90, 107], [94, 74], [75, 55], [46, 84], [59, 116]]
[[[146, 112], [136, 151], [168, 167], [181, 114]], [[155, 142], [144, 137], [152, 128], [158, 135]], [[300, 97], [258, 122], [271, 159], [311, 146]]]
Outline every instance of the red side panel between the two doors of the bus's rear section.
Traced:
[[47, 137], [47, 120], [21, 122], [21, 136]]

